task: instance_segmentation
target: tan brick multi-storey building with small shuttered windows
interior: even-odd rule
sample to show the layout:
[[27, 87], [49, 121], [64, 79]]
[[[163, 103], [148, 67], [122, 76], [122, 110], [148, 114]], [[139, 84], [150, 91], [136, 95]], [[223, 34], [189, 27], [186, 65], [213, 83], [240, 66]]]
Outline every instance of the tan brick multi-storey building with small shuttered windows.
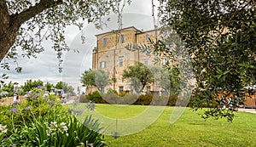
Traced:
[[[92, 54], [92, 70], [102, 69], [108, 71], [110, 78], [115, 77], [116, 82], [109, 85], [118, 92], [131, 91], [130, 83], [122, 78], [123, 71], [137, 62], [144, 65], [154, 65], [154, 55], [130, 51], [127, 45], [149, 44], [149, 38], [155, 40], [158, 31], [141, 31], [131, 26], [119, 31], [109, 31], [96, 35], [97, 44]], [[105, 90], [105, 91], [106, 91]], [[148, 85], [143, 92], [155, 91], [154, 85]]]

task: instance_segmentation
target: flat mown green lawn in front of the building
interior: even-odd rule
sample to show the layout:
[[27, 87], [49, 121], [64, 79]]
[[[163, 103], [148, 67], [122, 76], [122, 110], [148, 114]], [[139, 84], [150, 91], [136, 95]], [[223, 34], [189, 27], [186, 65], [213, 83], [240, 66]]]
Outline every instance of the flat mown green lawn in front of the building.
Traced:
[[[84, 105], [77, 105], [76, 108], [84, 108]], [[143, 126], [145, 129], [140, 132], [121, 136], [118, 139], [105, 136], [111, 147], [256, 146], [256, 114], [237, 112], [232, 123], [227, 122], [226, 119], [205, 121], [200, 115], [202, 111], [192, 111], [187, 108], [177, 122], [171, 124], [170, 116], [173, 107], [166, 107], [162, 112], [160, 109], [164, 107], [154, 107], [153, 110], [148, 111], [148, 115], [139, 117], [147, 108], [148, 106], [143, 105], [96, 105], [96, 110], [93, 112], [85, 110], [83, 117], [92, 115], [95, 118], [101, 118], [103, 127], [113, 131], [117, 129], [118, 133], [126, 134], [127, 130], [133, 132], [142, 127], [142, 125], [138, 127], [138, 124], [150, 120], [154, 122], [154, 117], [160, 113], [160, 117], [154, 123], [148, 127]], [[115, 120], [118, 120], [117, 128]], [[122, 122], [122, 120], [125, 121]]]

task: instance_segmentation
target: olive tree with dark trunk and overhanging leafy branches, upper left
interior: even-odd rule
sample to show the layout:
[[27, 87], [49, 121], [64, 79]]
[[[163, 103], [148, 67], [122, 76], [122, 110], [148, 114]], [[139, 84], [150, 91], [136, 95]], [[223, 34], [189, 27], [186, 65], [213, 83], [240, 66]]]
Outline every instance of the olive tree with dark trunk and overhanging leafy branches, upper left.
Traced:
[[[0, 0], [0, 61], [35, 57], [44, 51], [42, 42], [50, 40], [61, 62], [67, 25], [82, 29], [84, 20], [100, 26], [102, 16], [119, 13], [122, 0]], [[127, 1], [130, 3], [130, 0]], [[126, 1], [124, 1], [126, 3]], [[82, 37], [84, 39], [84, 37]], [[9, 69], [8, 62], [3, 68]], [[21, 68], [17, 67], [16, 71]]]

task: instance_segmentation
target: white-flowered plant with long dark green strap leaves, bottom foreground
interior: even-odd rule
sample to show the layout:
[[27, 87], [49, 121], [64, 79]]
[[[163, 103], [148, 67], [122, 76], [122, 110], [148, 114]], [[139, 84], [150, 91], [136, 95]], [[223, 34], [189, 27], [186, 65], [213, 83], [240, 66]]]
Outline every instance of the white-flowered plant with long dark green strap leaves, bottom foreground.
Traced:
[[90, 143], [94, 146], [106, 146], [102, 140], [102, 134], [98, 133], [100, 130], [99, 123], [90, 116], [87, 116], [83, 123], [79, 122], [75, 116], [67, 116], [65, 121], [35, 118], [29, 126], [22, 127], [20, 132], [13, 134], [3, 144], [47, 147], [87, 146]]

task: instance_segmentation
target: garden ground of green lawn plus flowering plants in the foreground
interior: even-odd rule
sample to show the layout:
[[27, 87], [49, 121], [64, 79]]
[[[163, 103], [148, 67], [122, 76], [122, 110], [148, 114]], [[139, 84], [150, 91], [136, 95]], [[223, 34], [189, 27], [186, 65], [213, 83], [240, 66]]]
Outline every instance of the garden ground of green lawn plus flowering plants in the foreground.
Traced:
[[[160, 115], [136, 133], [137, 119], [149, 107], [149, 116]], [[2, 146], [255, 146], [255, 114], [236, 112], [233, 122], [203, 119], [204, 110], [184, 108], [177, 122], [170, 123], [173, 106], [109, 105], [92, 101], [61, 105], [55, 95], [45, 97], [34, 88], [21, 103], [0, 107]], [[104, 116], [102, 119], [101, 116]], [[113, 120], [113, 127], [109, 125]], [[108, 123], [109, 122], [109, 123]], [[108, 133], [108, 130], [113, 132]]]

